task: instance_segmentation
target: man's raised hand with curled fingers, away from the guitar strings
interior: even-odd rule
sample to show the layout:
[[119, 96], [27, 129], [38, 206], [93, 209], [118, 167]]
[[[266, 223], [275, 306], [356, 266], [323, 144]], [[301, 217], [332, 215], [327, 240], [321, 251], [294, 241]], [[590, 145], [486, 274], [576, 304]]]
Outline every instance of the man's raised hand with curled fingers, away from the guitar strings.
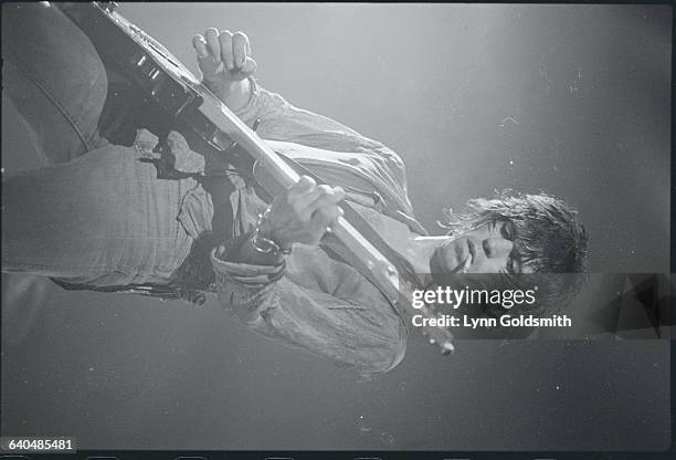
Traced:
[[256, 71], [246, 34], [210, 28], [203, 35], [194, 35], [192, 45], [202, 72], [202, 83], [231, 111], [244, 107], [251, 96], [247, 77]]

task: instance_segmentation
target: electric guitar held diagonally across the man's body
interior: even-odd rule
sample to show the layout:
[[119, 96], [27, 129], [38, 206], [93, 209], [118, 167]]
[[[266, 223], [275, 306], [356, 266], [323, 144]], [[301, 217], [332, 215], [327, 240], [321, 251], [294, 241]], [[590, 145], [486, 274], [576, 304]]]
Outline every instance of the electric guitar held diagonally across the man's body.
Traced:
[[[264, 167], [278, 186], [288, 188], [300, 176], [249, 126], [176, 59], [165, 46], [120, 15], [114, 2], [70, 3], [60, 7], [89, 38], [102, 60], [115, 65], [169, 117], [181, 122], [216, 150], [231, 155], [236, 143]], [[232, 158], [229, 158], [231, 160]], [[397, 269], [345, 218], [331, 231], [366, 266], [381, 292], [404, 320], [413, 315], [433, 318], [427, 305], [414, 310], [410, 293], [400, 285]], [[422, 328], [431, 344], [451, 353], [453, 336], [444, 327]]]

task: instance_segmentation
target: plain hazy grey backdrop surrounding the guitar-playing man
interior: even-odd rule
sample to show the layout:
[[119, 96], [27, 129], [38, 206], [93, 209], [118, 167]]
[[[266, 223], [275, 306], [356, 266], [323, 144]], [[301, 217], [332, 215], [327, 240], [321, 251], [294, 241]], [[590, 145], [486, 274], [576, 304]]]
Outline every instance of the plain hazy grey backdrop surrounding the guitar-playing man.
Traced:
[[[433, 233], [443, 207], [545, 190], [579, 208], [593, 272], [668, 272], [666, 7], [120, 12], [191, 69], [193, 34], [245, 31], [263, 86], [404, 158]], [[2, 108], [4, 174], [38, 167]], [[88, 449], [657, 450], [670, 439], [668, 345], [464, 341], [442, 358], [412, 334], [403, 364], [366, 379], [255, 336], [214, 301], [27, 281], [3, 304], [2, 435], [72, 435]]]

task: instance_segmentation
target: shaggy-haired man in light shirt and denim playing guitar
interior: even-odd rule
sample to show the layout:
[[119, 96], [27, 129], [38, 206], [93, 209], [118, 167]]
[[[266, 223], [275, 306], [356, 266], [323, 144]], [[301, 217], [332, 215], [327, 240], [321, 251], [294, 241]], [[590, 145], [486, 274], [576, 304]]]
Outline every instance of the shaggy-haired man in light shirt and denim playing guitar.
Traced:
[[[38, 4], [6, 7], [3, 21], [6, 91], [54, 164], [3, 182], [3, 271], [68, 289], [216, 292], [254, 331], [376, 373], [401, 362], [409, 326], [326, 233], [344, 200], [409, 268], [400, 275], [411, 286], [432, 282], [430, 273], [582, 270], [583, 227], [543, 195], [471, 201], [468, 215], [448, 222], [452, 234], [429, 237], [413, 217], [400, 157], [261, 88], [241, 32], [194, 38], [203, 83], [276, 151], [337, 187], [304, 176], [266, 202], [264, 170], [253, 170], [256, 180], [242, 171], [223, 178], [218, 158], [196, 154], [176, 132], [166, 142], [176, 168], [218, 179], [158, 179], [158, 136], [139, 129], [124, 146], [101, 135], [112, 75], [74, 23]], [[35, 33], [24, 34], [29, 28]], [[556, 282], [548, 292], [570, 297], [577, 289]]]

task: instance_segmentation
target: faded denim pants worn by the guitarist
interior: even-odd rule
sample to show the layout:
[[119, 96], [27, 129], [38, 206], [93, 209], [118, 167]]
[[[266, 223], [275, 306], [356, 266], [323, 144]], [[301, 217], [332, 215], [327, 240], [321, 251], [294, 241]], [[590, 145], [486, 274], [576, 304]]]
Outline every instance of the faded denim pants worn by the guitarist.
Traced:
[[3, 96], [46, 165], [2, 182], [2, 271], [97, 286], [170, 280], [193, 241], [181, 201], [199, 186], [139, 161], [157, 143], [149, 132], [130, 147], [98, 135], [107, 77], [86, 35], [45, 2], [3, 4], [2, 58]]

